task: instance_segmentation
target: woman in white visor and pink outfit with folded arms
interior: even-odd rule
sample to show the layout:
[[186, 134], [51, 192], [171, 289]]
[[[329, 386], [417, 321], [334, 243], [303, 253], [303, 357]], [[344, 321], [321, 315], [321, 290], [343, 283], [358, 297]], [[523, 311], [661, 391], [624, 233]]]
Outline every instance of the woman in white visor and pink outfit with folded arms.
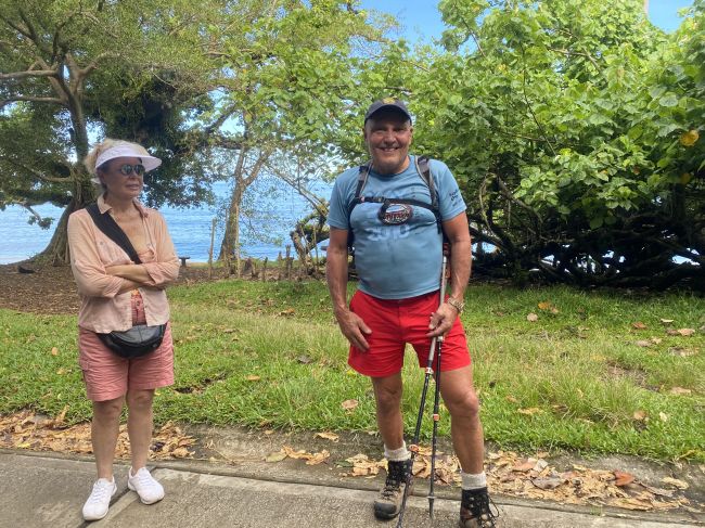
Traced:
[[[68, 218], [70, 265], [81, 297], [79, 363], [86, 392], [93, 403], [91, 440], [98, 469], [98, 480], [82, 513], [86, 520], [97, 520], [107, 514], [117, 490], [113, 459], [126, 402], [132, 462], [128, 487], [145, 504], [164, 498], [164, 488], [145, 464], [152, 439], [154, 390], [174, 383], [174, 347], [164, 287], [176, 280], [179, 260], [162, 215], [138, 202], [144, 172], [158, 167], [162, 160], [138, 144], [106, 139], [91, 151], [85, 164], [95, 175], [93, 181], [103, 188], [98, 198], [100, 214], [117, 222], [142, 262], [131, 261], [86, 209]], [[134, 324], [166, 324], [156, 350], [125, 359], [98, 335], [127, 331]]]

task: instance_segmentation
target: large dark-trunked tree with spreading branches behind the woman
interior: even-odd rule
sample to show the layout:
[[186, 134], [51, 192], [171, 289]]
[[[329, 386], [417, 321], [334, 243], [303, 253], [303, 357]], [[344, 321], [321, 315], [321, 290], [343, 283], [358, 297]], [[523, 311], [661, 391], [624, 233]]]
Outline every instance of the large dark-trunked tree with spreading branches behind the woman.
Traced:
[[195, 69], [183, 51], [198, 41], [198, 13], [180, 0], [0, 1], [0, 207], [65, 207], [43, 252], [51, 261], [67, 262], [68, 215], [94, 198], [82, 165], [89, 134], [107, 116], [124, 132], [118, 117], [126, 102], [134, 107], [130, 95]]

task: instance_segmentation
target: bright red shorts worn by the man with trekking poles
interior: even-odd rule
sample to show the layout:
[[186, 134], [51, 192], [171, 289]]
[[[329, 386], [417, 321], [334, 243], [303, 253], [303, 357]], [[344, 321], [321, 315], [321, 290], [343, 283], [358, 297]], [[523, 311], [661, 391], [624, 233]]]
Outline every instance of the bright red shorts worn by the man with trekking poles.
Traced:
[[[428, 318], [437, 309], [438, 292], [389, 300], [357, 291], [350, 300], [350, 310], [362, 318], [372, 334], [366, 336], [370, 345], [367, 351], [350, 346], [348, 364], [366, 376], [396, 374], [401, 371], [405, 346], [409, 343], [416, 351], [419, 365], [425, 369], [431, 348], [431, 339], [426, 337]], [[457, 318], [443, 342], [440, 371], [452, 371], [470, 363], [465, 331]]]

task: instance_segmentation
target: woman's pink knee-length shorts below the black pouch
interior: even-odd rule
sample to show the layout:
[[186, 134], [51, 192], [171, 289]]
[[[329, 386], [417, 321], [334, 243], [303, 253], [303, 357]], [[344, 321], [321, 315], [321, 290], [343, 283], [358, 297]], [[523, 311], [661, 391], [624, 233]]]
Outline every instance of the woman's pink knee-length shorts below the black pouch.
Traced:
[[[132, 297], [132, 324], [144, 324], [144, 306]], [[174, 342], [167, 323], [159, 348], [137, 359], [125, 359], [111, 351], [94, 332], [78, 329], [78, 363], [84, 371], [89, 400], [113, 400], [128, 390], [155, 389], [174, 384]]]

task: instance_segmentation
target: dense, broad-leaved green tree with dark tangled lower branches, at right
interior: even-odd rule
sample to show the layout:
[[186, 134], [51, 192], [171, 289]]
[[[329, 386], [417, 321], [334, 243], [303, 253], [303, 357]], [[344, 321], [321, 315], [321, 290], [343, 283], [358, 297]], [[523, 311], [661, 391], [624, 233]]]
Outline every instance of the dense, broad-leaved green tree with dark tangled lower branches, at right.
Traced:
[[632, 3], [440, 3], [448, 52], [410, 78], [428, 125], [416, 144], [459, 179], [477, 270], [657, 287], [702, 276], [702, 1], [672, 37]]

